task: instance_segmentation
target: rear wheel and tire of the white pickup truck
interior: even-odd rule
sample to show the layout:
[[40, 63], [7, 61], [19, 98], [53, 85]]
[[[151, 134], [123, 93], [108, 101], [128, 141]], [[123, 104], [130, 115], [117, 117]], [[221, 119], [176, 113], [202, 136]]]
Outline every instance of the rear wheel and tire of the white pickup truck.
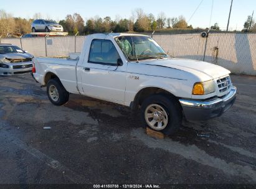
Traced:
[[61, 106], [69, 101], [69, 92], [65, 90], [60, 80], [56, 78], [48, 81], [47, 96], [50, 102], [56, 106]]

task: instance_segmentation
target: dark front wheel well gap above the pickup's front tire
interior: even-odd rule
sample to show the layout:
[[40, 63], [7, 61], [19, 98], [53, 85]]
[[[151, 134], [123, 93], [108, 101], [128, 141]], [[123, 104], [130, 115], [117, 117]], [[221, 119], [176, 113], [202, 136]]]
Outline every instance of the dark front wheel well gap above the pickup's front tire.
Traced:
[[156, 88], [156, 87], [148, 87], [148, 88], [144, 88], [142, 90], [140, 90], [136, 96], [135, 99], [133, 101], [133, 103], [131, 104], [131, 109], [136, 110], [139, 108], [139, 106], [141, 106], [141, 104], [143, 103], [143, 101], [148, 98], [149, 96], [151, 96], [152, 94], [166, 94], [168, 96], [170, 96], [171, 98], [177, 99], [176, 96], [174, 96], [173, 94], [169, 93], [169, 91], [163, 90], [161, 88]]

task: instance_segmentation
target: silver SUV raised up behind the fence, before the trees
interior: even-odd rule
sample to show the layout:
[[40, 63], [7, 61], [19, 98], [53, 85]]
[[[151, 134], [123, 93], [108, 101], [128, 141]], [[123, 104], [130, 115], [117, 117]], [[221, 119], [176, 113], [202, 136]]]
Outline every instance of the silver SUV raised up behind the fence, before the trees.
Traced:
[[63, 32], [63, 27], [55, 21], [38, 19], [32, 22], [31, 30], [32, 32]]

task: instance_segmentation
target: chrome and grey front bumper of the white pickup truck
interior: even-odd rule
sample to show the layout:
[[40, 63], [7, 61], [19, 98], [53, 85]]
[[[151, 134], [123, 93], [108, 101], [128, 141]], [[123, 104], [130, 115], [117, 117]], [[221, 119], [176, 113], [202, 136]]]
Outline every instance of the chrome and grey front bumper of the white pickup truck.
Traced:
[[179, 99], [187, 120], [206, 120], [221, 116], [235, 102], [237, 88], [232, 86], [230, 92], [221, 98], [196, 101], [191, 99]]

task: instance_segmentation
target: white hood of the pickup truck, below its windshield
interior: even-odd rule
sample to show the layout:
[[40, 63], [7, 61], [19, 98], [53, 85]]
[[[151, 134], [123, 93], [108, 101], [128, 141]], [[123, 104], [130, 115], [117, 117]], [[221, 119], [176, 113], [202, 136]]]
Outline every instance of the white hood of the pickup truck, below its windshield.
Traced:
[[146, 65], [155, 65], [160, 67], [174, 68], [177, 70], [187, 71], [199, 76], [202, 80], [219, 78], [230, 73], [229, 70], [212, 63], [202, 62], [198, 60], [188, 60], [181, 58], [166, 58], [163, 60], [142, 61]]

